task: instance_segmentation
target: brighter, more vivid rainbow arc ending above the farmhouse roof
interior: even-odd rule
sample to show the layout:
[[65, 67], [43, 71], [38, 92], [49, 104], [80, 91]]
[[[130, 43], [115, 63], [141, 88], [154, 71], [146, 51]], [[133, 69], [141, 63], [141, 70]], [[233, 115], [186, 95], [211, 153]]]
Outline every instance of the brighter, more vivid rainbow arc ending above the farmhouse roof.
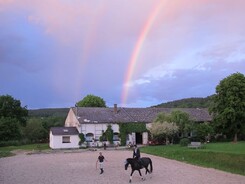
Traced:
[[144, 41], [152, 27], [152, 25], [154, 24], [154, 21], [156, 19], [156, 17], [158, 16], [158, 13], [160, 12], [162, 6], [163, 6], [163, 2], [162, 0], [160, 0], [158, 3], [156, 3], [156, 5], [153, 7], [153, 11], [150, 13], [149, 18], [146, 20], [143, 29], [140, 33], [140, 36], [138, 37], [138, 40], [135, 44], [135, 47], [133, 49], [133, 52], [131, 54], [130, 60], [129, 60], [129, 64], [126, 70], [126, 74], [125, 74], [125, 78], [124, 78], [124, 85], [123, 85], [123, 90], [122, 90], [122, 94], [121, 94], [121, 105], [125, 106], [126, 102], [127, 102], [127, 98], [128, 98], [128, 92], [129, 92], [129, 82], [133, 76], [133, 72], [135, 70], [139, 55], [140, 55], [140, 51], [143, 47]]

